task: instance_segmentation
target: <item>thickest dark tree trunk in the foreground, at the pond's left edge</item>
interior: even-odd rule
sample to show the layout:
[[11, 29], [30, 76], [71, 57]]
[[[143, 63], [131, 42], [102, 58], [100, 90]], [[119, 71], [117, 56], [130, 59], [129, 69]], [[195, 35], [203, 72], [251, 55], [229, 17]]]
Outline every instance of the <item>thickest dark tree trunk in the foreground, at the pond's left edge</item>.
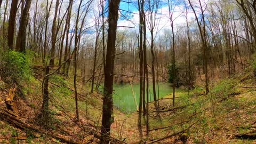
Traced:
[[104, 136], [110, 135], [110, 126], [114, 118], [111, 118], [113, 113], [113, 78], [114, 78], [114, 61], [115, 61], [115, 44], [116, 44], [116, 29], [118, 20], [118, 8], [120, 0], [109, 1], [108, 13], [108, 42], [106, 54], [106, 70], [104, 79], [103, 91], [103, 106], [102, 106], [102, 139], [100, 143], [109, 143], [104, 139]]

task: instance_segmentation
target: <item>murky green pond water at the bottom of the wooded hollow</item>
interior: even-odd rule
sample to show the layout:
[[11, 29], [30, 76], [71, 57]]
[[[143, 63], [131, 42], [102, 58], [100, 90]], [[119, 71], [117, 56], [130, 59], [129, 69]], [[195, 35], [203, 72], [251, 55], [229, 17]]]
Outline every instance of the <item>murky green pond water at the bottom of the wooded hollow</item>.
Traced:
[[[140, 97], [140, 85], [132, 85], [132, 89], [134, 91], [135, 98], [139, 105], [139, 97]], [[121, 110], [125, 114], [133, 113], [136, 111], [136, 104], [134, 102], [133, 93], [132, 93], [130, 84], [122, 84], [117, 85], [114, 84], [114, 106]], [[172, 87], [168, 83], [159, 83], [159, 99], [163, 98], [165, 95], [172, 93]], [[158, 97], [157, 85], [156, 85], [156, 95]], [[150, 84], [149, 86], [149, 101], [154, 101], [153, 98], [153, 86]]]

